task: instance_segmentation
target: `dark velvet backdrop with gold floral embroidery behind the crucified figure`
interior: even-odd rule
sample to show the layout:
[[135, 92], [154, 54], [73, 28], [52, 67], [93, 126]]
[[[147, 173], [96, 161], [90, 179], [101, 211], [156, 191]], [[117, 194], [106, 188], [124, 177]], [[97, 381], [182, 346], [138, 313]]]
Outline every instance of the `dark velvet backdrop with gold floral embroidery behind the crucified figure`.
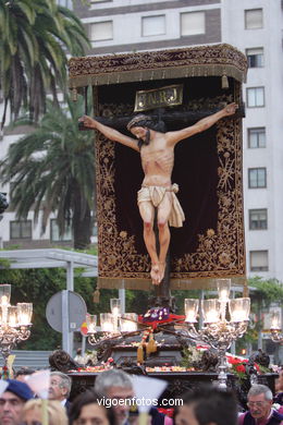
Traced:
[[[239, 101], [239, 84], [230, 78], [230, 88], [224, 92], [220, 80], [189, 77], [100, 86], [97, 111], [102, 117], [130, 116], [136, 90], [174, 83], [184, 84], [184, 102], [174, 111], [213, 110]], [[189, 119], [186, 123], [176, 120], [168, 130], [192, 124]], [[245, 274], [241, 130], [239, 119], [221, 120], [175, 148], [172, 182], [180, 185], [177, 197], [186, 220], [183, 228], [171, 228], [173, 288], [192, 287], [192, 279]], [[136, 204], [143, 181], [139, 154], [101, 135], [96, 146], [100, 287], [123, 282], [124, 287], [138, 288], [140, 279], [149, 282], [150, 268]]]

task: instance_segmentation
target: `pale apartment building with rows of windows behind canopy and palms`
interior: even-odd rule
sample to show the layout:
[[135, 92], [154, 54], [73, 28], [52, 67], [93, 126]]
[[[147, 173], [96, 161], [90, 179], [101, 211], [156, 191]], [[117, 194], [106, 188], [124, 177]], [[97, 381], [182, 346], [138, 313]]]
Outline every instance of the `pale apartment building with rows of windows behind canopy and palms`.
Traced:
[[[69, 5], [69, 0], [60, 0]], [[66, 2], [66, 3], [65, 3]], [[247, 275], [283, 281], [283, 81], [281, 0], [90, 0], [74, 10], [86, 25], [89, 54], [146, 51], [229, 42], [248, 58], [244, 86], [244, 194]], [[0, 142], [0, 157], [19, 135]], [[1, 189], [1, 187], [0, 187]], [[8, 189], [1, 189], [7, 190]], [[0, 222], [2, 245], [47, 245], [58, 238], [56, 220], [40, 235], [33, 212]], [[71, 239], [66, 234], [66, 239]]]

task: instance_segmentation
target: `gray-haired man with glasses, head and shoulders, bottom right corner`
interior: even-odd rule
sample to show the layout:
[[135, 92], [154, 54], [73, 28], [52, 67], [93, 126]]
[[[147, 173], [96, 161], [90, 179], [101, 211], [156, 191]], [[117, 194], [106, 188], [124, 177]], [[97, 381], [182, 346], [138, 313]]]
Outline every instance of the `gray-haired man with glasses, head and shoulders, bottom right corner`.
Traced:
[[238, 425], [280, 425], [283, 415], [272, 409], [273, 394], [266, 385], [253, 385], [247, 393], [248, 411], [241, 414]]

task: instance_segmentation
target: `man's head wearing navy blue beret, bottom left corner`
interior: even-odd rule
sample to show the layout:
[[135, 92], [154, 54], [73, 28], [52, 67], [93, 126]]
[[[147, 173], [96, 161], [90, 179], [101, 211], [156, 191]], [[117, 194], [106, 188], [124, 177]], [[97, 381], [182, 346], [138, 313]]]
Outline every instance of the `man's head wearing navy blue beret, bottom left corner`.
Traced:
[[0, 397], [0, 424], [17, 425], [22, 421], [25, 402], [34, 396], [25, 382], [15, 379], [8, 379], [8, 381], [9, 386]]

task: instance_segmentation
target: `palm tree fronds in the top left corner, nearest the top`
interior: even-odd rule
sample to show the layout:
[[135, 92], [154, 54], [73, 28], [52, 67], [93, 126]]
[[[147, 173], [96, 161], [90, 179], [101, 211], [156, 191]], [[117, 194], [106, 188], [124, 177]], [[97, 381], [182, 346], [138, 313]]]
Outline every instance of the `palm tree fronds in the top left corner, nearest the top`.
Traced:
[[12, 119], [27, 107], [37, 121], [50, 92], [65, 90], [66, 51], [84, 54], [89, 41], [81, 21], [56, 0], [0, 0], [0, 88]]

